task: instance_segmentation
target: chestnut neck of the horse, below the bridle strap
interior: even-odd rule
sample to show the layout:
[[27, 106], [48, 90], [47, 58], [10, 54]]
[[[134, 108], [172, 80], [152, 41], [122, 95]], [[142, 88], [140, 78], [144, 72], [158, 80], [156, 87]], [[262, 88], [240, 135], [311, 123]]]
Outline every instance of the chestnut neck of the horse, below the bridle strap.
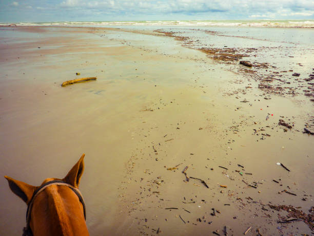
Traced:
[[83, 205], [66, 186], [48, 186], [34, 199], [30, 227], [36, 235], [88, 235]]

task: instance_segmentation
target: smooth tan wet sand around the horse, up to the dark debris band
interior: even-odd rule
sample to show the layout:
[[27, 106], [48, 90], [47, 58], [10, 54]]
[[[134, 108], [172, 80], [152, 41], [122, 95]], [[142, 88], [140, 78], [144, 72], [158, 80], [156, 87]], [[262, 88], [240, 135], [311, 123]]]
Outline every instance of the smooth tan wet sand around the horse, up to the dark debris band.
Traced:
[[[156, 32], [13, 29], [1, 31], [2, 175], [40, 185], [85, 153], [80, 189], [91, 235], [222, 235], [224, 226], [229, 235], [250, 226], [248, 234], [311, 233], [302, 221], [277, 223], [287, 212], [269, 206], [306, 214], [313, 206], [308, 99], [265, 94]], [[81, 77], [97, 80], [60, 86]], [[186, 181], [186, 166], [208, 188]], [[0, 234], [21, 234], [26, 205], [0, 181]]]

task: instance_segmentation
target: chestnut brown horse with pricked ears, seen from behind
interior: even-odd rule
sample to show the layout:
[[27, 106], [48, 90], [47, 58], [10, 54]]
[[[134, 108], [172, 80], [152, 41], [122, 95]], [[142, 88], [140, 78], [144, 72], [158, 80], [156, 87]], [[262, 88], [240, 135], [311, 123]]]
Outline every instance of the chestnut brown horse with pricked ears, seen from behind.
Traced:
[[23, 235], [89, 235], [85, 204], [78, 190], [84, 156], [65, 178], [47, 178], [38, 187], [5, 176], [12, 192], [27, 204]]

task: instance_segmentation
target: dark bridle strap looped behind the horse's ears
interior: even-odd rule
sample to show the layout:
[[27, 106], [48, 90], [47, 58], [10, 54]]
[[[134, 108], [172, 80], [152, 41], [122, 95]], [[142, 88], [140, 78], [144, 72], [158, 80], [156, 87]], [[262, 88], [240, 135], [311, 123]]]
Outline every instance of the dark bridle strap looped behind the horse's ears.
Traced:
[[77, 188], [74, 188], [72, 185], [65, 183], [63, 180], [51, 180], [48, 181], [47, 183], [41, 185], [40, 187], [38, 187], [36, 189], [36, 191], [33, 193], [33, 196], [31, 198], [31, 201], [29, 202], [28, 206], [27, 206], [27, 211], [26, 211], [26, 227], [23, 228], [23, 234], [22, 236], [32, 236], [33, 232], [30, 228], [30, 216], [31, 216], [31, 211], [32, 211], [32, 207], [33, 207], [33, 203], [34, 203], [34, 199], [35, 197], [40, 194], [42, 191], [45, 190], [45, 188], [47, 188], [48, 186], [51, 185], [61, 185], [61, 186], [67, 186], [70, 189], [72, 189], [72, 191], [77, 195], [78, 199], [80, 199], [80, 202], [83, 205], [83, 210], [84, 210], [84, 218], [86, 220], [86, 210], [85, 210], [85, 203], [84, 203], [84, 199], [82, 196], [82, 193], [80, 192], [80, 190], [78, 190]]

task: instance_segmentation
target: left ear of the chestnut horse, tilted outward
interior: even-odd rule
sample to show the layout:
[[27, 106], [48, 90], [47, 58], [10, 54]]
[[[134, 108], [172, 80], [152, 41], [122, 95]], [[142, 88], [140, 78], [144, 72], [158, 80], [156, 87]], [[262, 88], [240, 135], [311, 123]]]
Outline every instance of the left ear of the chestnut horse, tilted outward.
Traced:
[[13, 179], [9, 176], [5, 176], [5, 178], [9, 182], [9, 186], [11, 191], [16, 194], [17, 196], [21, 197], [22, 200], [26, 203], [29, 204], [34, 191], [36, 190], [37, 187], [28, 185], [22, 181], [18, 181], [16, 179]]

